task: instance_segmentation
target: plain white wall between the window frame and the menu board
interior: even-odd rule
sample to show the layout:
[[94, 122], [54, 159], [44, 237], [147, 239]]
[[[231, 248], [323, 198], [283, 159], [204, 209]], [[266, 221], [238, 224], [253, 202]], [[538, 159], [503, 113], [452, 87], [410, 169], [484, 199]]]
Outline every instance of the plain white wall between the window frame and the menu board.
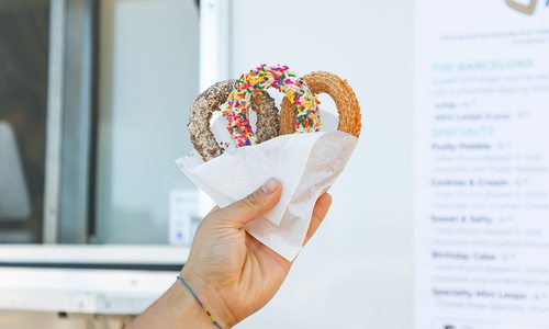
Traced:
[[413, 1], [234, 0], [233, 75], [348, 79], [365, 129], [334, 205], [271, 304], [239, 328], [412, 328]]

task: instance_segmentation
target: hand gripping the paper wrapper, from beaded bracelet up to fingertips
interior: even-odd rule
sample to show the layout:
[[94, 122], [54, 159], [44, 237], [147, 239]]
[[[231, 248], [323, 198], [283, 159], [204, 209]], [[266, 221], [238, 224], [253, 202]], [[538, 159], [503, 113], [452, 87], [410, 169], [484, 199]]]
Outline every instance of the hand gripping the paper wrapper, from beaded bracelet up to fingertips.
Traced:
[[[214, 208], [200, 225], [182, 277], [223, 325], [232, 327], [269, 302], [284, 281], [292, 263], [264, 246], [244, 226], [268, 213], [282, 188], [271, 179], [243, 201]], [[322, 195], [314, 207], [305, 243], [332, 204]]]

